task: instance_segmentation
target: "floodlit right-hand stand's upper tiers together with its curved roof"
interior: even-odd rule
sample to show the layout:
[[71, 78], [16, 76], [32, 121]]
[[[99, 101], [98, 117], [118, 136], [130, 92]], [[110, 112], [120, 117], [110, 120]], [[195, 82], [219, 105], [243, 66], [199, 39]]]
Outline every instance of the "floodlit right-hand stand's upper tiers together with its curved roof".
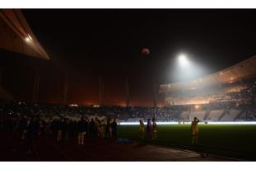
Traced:
[[165, 106], [200, 105], [211, 102], [255, 102], [255, 98], [232, 97], [232, 94], [255, 86], [256, 55], [239, 64], [186, 82], [168, 83], [160, 86], [165, 94]]

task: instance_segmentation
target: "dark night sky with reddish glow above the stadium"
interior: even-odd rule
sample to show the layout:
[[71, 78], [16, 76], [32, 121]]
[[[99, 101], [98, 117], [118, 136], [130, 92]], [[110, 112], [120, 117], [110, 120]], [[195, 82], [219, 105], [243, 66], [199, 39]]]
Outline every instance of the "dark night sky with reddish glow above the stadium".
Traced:
[[[32, 31], [50, 54], [41, 66], [41, 102], [61, 102], [63, 73], [70, 73], [69, 102], [97, 104], [99, 74], [105, 104], [125, 104], [125, 76], [131, 105], [152, 106], [157, 86], [184, 80], [171, 74], [185, 52], [205, 68], [203, 76], [256, 54], [256, 11], [228, 9], [27, 9]], [[147, 47], [148, 56], [140, 54]], [[50, 93], [50, 94], [49, 94]], [[158, 95], [158, 102], [163, 100]]]

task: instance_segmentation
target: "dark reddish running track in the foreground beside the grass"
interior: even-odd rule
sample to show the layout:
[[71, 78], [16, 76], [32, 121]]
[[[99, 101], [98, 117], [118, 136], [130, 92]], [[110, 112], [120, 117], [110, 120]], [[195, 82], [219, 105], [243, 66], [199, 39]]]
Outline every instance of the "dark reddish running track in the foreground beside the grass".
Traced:
[[232, 161], [150, 144], [120, 144], [109, 139], [86, 139], [85, 145], [77, 145], [71, 140], [57, 144], [52, 139], [39, 138], [34, 151], [27, 153], [26, 144], [17, 146], [10, 133], [1, 132], [1, 136], [1, 161]]

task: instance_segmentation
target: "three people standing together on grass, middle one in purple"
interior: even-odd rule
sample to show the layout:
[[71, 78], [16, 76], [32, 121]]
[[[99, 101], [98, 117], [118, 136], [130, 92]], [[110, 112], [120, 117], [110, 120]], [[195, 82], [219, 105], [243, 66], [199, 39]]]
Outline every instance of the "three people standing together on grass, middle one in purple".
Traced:
[[[145, 125], [143, 120], [139, 120], [139, 138], [144, 139], [145, 136]], [[154, 118], [147, 120], [147, 131], [146, 131], [147, 140], [157, 139], [157, 122]]]

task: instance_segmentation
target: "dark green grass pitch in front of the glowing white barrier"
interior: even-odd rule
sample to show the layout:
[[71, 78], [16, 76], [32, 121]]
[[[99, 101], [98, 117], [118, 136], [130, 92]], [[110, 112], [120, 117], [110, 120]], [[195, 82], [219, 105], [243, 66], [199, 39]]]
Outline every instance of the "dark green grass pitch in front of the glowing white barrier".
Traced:
[[[199, 125], [199, 131], [199, 145], [194, 147], [190, 125], [158, 125], [157, 140], [150, 143], [256, 160], [256, 125]], [[120, 125], [118, 137], [139, 140], [138, 125]]]

